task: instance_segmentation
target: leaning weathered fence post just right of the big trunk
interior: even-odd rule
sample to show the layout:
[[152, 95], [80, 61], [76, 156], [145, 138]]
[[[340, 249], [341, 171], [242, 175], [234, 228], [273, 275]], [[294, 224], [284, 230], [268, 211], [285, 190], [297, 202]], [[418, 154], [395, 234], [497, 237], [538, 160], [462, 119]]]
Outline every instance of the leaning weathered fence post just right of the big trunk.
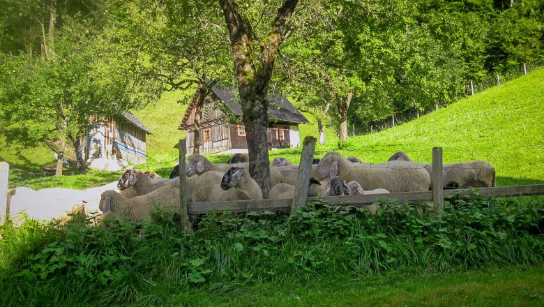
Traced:
[[296, 212], [296, 208], [306, 204], [308, 197], [308, 184], [310, 184], [310, 172], [312, 172], [312, 162], [314, 158], [315, 137], [304, 137], [302, 142], [301, 163], [299, 164], [299, 173], [296, 177], [295, 192], [293, 204], [291, 206], [291, 214]]

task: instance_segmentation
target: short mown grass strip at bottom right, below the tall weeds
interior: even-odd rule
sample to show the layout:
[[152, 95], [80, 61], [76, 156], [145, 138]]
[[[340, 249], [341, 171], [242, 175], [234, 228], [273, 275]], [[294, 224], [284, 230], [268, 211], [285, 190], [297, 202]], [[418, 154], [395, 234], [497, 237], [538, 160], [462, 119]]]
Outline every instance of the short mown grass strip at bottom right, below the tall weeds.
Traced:
[[[543, 306], [544, 267], [457, 274], [393, 272], [308, 285], [264, 283], [174, 296], [172, 306]], [[199, 302], [195, 304], [195, 302]]]

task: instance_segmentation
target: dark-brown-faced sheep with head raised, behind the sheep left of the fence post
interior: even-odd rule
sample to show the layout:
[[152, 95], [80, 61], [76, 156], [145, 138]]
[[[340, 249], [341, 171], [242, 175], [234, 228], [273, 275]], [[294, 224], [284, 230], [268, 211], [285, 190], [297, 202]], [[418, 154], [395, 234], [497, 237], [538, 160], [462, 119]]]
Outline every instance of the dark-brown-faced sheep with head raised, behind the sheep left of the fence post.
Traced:
[[179, 177], [174, 179], [152, 179], [140, 170], [127, 169], [123, 172], [117, 183], [117, 188], [121, 190], [121, 194], [126, 197], [145, 195], [151, 193], [153, 190], [162, 188], [163, 186], [179, 186]]

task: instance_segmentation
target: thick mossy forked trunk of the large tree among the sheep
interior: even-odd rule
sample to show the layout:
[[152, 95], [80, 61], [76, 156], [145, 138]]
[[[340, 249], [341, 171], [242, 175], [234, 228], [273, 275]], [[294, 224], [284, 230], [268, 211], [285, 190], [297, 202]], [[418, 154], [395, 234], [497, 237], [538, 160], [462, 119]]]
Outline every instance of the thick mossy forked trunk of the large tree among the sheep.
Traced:
[[282, 40], [288, 35], [286, 24], [291, 19], [298, 0], [285, 0], [278, 9], [269, 33], [259, 42], [260, 52], [255, 59], [252, 50], [252, 31], [249, 20], [241, 14], [236, 0], [219, 0], [234, 57], [242, 118], [245, 125], [250, 156], [250, 175], [261, 187], [263, 196], [270, 190], [270, 168], [266, 126], [269, 100], [266, 98], [274, 68], [275, 56]]

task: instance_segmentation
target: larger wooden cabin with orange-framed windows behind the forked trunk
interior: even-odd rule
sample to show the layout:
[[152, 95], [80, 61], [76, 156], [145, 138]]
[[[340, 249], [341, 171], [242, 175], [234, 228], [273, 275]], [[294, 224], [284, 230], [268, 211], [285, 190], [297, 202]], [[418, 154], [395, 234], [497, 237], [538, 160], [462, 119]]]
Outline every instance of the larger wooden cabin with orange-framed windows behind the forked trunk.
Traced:
[[[303, 114], [283, 96], [269, 97], [269, 127], [267, 129], [269, 149], [299, 147], [301, 137], [299, 124], [308, 123]], [[194, 128], [196, 99], [187, 107], [180, 130], [186, 130], [187, 152], [194, 152]], [[247, 150], [245, 128], [241, 122], [242, 108], [236, 102], [232, 89], [212, 87], [204, 100], [201, 114], [199, 153]]]

